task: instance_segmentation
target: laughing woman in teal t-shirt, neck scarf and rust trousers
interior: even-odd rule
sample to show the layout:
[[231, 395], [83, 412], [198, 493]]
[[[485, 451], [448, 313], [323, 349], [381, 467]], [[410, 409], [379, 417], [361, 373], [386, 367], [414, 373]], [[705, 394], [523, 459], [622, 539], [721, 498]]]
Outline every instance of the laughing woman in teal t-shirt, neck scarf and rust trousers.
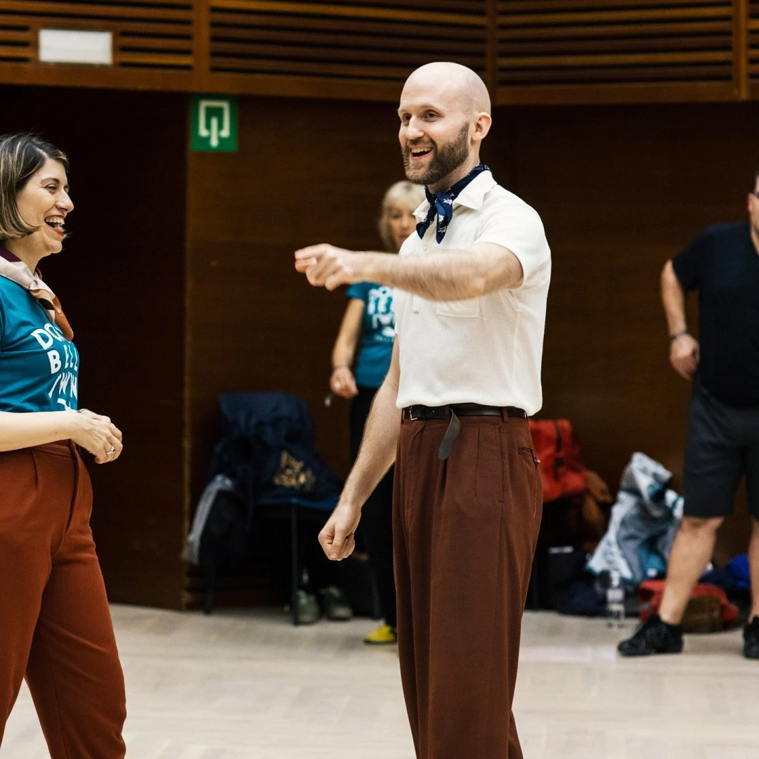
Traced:
[[26, 679], [52, 759], [121, 759], [124, 678], [79, 449], [114, 461], [121, 432], [77, 413], [79, 351], [37, 269], [63, 248], [67, 171], [38, 137], [0, 137], [0, 742]]

